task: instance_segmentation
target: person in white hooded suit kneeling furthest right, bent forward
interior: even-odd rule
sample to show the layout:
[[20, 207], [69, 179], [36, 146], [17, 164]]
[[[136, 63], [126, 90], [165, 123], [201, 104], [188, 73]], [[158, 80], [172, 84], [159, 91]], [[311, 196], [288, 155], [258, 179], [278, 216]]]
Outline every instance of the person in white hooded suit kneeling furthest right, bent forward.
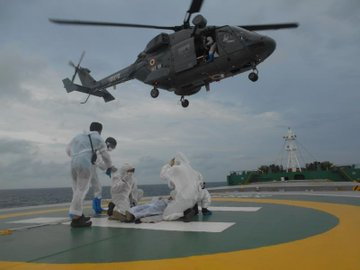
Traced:
[[165, 164], [160, 172], [160, 178], [168, 182], [174, 200], [169, 202], [163, 213], [163, 220], [176, 220], [184, 217], [184, 221], [195, 215], [193, 210], [200, 197], [200, 182], [202, 176], [195, 171], [189, 160], [182, 153]]

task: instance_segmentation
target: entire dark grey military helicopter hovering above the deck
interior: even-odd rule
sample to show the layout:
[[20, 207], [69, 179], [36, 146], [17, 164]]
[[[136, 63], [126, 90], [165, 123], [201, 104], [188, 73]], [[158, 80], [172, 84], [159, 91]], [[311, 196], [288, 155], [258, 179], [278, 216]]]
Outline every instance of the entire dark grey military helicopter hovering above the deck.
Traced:
[[[181, 105], [186, 108], [189, 101], [185, 98], [196, 94], [205, 86], [210, 90], [212, 82], [251, 71], [248, 78], [258, 80], [257, 66], [275, 50], [275, 41], [255, 31], [296, 28], [298, 23], [278, 23], [241, 26], [208, 26], [202, 15], [196, 15], [190, 25], [191, 16], [200, 12], [203, 0], [192, 0], [182, 25], [156, 26], [147, 24], [113, 23], [99, 21], [80, 21], [49, 19], [50, 22], [65, 25], [112, 26], [170, 30], [173, 33], [160, 33], [148, 42], [131, 65], [101, 79], [95, 80], [90, 70], [81, 67], [84, 53], [75, 69], [72, 79], [63, 79], [68, 93], [79, 91], [102, 97], [105, 102], [114, 100], [107, 88], [137, 79], [152, 86], [152, 98], [159, 96], [159, 89], [180, 96]], [[212, 52], [210, 52], [212, 50]], [[81, 85], [75, 84], [76, 75]]]

